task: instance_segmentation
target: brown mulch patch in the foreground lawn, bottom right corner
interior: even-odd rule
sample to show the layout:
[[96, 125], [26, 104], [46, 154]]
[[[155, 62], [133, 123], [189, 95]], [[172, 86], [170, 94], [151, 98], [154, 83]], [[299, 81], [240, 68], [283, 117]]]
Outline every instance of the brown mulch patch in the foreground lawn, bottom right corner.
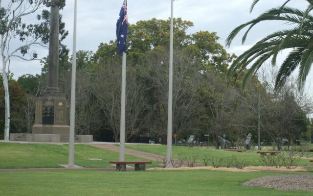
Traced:
[[243, 183], [243, 186], [266, 187], [277, 190], [313, 191], [313, 176], [265, 176]]

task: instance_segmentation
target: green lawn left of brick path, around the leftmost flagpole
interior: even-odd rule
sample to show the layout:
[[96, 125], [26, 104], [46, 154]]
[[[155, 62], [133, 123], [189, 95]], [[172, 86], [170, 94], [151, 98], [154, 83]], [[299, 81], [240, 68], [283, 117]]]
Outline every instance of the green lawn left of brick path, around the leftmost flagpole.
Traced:
[[[109, 161], [118, 160], [119, 153], [77, 144], [74, 158], [74, 164], [82, 167], [114, 167]], [[104, 161], [91, 161], [90, 158]], [[125, 159], [146, 160], [131, 155], [125, 155]], [[0, 160], [0, 168], [60, 168], [58, 165], [68, 164], [68, 145], [0, 143]]]

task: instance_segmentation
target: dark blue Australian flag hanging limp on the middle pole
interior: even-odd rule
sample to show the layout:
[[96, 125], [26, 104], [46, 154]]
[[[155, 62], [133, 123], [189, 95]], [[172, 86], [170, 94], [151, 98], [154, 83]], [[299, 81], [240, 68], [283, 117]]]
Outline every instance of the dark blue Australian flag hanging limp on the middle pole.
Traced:
[[117, 50], [118, 54], [121, 56], [123, 55], [123, 52], [126, 52], [127, 26], [127, 0], [123, 0], [123, 5], [116, 22]]

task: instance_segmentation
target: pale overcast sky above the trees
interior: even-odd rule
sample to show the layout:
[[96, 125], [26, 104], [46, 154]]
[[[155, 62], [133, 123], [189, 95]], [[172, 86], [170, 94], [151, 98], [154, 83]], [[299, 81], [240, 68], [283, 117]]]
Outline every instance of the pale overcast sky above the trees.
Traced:
[[[5, 4], [2, 3], [2, 6]], [[224, 41], [228, 34], [238, 25], [256, 18], [272, 7], [282, 5], [286, 0], [260, 0], [252, 13], [249, 8], [253, 0], [175, 0], [174, 17], [191, 21], [194, 26], [188, 29], [188, 33], [208, 30], [217, 32], [220, 37], [219, 42], [224, 46]], [[2, 1], [3, 2], [3, 1]], [[115, 24], [122, 0], [77, 0], [77, 50], [96, 51], [99, 44], [108, 43], [115, 39]], [[304, 9], [307, 6], [305, 0], [291, 0], [288, 4], [291, 7]], [[64, 43], [72, 49], [73, 32], [73, 9], [74, 0], [66, 0], [66, 6], [60, 10], [66, 29], [69, 31]], [[128, 21], [135, 24], [140, 20], [168, 19], [171, 12], [171, 0], [128, 0]], [[34, 16], [33, 16], [34, 17]], [[27, 20], [30, 20], [27, 17]], [[254, 43], [269, 33], [288, 28], [286, 24], [271, 22], [256, 25], [249, 33], [245, 45], [241, 45], [239, 34], [227, 49], [230, 53], [237, 55], [251, 47]], [[36, 49], [39, 57], [45, 57], [48, 53], [46, 49]], [[72, 51], [70, 51], [70, 54]], [[284, 54], [278, 59], [280, 62]], [[14, 77], [25, 73], [40, 73], [41, 65], [39, 61], [11, 60], [11, 72]], [[310, 73], [310, 79], [312, 72]], [[309, 82], [311, 83], [311, 82]]]

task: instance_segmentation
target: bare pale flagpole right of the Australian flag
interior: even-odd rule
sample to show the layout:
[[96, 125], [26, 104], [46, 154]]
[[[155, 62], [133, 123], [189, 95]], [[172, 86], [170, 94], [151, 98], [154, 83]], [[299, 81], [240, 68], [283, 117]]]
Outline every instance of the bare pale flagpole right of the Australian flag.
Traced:
[[172, 122], [173, 122], [173, 1], [171, 0], [171, 30], [170, 30], [170, 67], [168, 81], [168, 116], [167, 116], [167, 161], [172, 158]]

